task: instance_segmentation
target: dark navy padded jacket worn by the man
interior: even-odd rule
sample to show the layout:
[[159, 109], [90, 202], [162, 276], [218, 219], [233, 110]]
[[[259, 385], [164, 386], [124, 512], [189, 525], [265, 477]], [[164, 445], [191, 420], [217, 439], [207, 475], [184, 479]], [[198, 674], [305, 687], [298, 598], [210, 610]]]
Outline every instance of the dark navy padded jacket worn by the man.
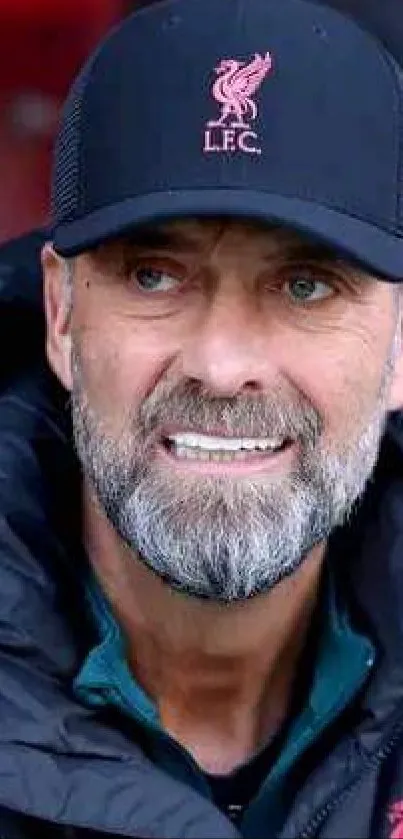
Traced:
[[[41, 240], [0, 250], [0, 837], [236, 837], [149, 761], [128, 720], [71, 690], [94, 639], [67, 395], [44, 358]], [[332, 540], [340, 596], [377, 665], [294, 768], [288, 839], [403, 836], [402, 429], [391, 417], [359, 513]]]

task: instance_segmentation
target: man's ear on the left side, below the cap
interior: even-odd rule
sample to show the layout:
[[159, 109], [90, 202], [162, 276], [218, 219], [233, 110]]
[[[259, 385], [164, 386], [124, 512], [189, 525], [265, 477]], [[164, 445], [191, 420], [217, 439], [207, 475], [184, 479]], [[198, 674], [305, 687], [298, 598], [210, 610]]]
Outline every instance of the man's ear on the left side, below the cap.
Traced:
[[46, 354], [49, 364], [67, 390], [71, 377], [71, 306], [66, 264], [47, 243], [42, 250], [43, 295], [46, 316]]

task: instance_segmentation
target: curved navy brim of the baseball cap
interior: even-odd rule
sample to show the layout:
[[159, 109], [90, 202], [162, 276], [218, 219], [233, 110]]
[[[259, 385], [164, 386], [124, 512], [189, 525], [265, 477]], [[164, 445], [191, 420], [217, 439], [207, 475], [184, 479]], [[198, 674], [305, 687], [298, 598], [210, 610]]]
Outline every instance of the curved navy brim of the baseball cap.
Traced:
[[128, 198], [54, 229], [61, 256], [76, 256], [129, 230], [174, 218], [228, 216], [283, 224], [392, 282], [403, 280], [403, 237], [311, 201], [233, 189], [178, 190]]

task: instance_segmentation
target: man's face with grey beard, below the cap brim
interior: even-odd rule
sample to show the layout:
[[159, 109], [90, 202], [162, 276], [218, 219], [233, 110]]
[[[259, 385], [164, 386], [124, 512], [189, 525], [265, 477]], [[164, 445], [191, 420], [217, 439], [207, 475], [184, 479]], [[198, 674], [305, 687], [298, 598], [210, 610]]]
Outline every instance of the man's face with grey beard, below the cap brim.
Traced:
[[284, 229], [178, 221], [79, 257], [62, 378], [118, 537], [212, 600], [293, 573], [373, 471], [396, 308]]

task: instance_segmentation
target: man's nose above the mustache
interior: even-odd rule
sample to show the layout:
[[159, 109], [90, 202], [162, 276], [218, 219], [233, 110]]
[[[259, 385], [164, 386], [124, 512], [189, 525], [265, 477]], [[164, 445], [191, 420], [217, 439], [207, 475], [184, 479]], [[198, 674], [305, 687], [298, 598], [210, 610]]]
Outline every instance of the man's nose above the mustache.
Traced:
[[246, 293], [221, 293], [186, 342], [182, 372], [217, 397], [264, 390], [276, 377], [270, 343], [259, 301]]

